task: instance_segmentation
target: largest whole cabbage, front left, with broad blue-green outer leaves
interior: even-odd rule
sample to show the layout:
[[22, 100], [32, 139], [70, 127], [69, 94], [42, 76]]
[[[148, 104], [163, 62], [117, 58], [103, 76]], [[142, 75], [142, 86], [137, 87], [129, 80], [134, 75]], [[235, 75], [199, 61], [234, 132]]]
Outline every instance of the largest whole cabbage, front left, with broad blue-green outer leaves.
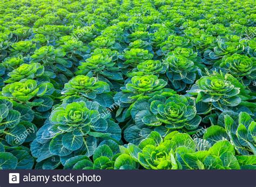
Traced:
[[[97, 138], [119, 141], [120, 127], [111, 120], [105, 107], [77, 97], [66, 99], [56, 107], [32, 142], [32, 154], [38, 161], [57, 155], [63, 157], [84, 153], [91, 156]], [[45, 147], [38, 150], [38, 147]]]

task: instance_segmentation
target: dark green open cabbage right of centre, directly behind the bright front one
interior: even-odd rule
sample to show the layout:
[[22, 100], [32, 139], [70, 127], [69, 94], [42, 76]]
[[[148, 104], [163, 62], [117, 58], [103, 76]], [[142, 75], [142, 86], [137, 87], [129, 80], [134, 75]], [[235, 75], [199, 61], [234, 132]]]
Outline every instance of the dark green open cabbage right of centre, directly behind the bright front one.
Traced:
[[[146, 107], [145, 100], [148, 100]], [[194, 130], [201, 121], [201, 117], [197, 115], [194, 100], [178, 94], [167, 97], [155, 95], [149, 99], [139, 99], [131, 109], [131, 114], [138, 124], [155, 127], [163, 125], [170, 130], [183, 127]]]

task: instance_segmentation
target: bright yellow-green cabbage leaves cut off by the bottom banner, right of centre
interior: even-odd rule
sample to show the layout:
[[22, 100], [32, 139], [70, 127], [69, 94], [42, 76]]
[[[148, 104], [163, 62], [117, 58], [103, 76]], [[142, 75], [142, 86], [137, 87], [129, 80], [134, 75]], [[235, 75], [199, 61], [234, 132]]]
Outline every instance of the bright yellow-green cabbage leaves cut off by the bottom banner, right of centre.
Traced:
[[[227, 140], [212, 146], [202, 139], [191, 139], [188, 134], [173, 131], [161, 138], [152, 132], [138, 146], [129, 144], [122, 148], [145, 169], [240, 169], [245, 157], [235, 157], [234, 147]], [[253, 167], [253, 161], [248, 166]]]

